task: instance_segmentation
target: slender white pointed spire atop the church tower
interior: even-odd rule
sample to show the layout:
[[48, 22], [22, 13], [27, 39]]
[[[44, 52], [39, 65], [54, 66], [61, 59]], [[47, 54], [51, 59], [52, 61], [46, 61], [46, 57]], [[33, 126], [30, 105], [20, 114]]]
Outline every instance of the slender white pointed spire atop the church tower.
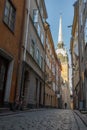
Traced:
[[59, 33], [58, 33], [58, 46], [63, 47], [63, 34], [62, 34], [62, 17], [60, 16], [60, 21], [59, 21]]

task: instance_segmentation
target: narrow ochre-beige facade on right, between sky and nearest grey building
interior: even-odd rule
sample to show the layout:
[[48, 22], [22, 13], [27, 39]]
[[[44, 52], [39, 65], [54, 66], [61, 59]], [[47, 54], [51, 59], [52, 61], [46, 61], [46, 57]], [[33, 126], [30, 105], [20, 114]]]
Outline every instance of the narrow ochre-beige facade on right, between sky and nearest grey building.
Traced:
[[78, 2], [74, 4], [74, 19], [72, 25], [72, 37], [70, 43], [71, 61], [72, 61], [72, 87], [74, 109], [79, 107], [79, 48], [78, 48]]

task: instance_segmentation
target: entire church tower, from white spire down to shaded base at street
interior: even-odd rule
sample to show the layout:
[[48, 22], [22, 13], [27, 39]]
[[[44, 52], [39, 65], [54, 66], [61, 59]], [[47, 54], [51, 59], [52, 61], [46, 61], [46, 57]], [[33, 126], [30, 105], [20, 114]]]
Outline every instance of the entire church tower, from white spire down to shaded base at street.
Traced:
[[67, 107], [70, 108], [70, 91], [69, 91], [69, 63], [68, 54], [64, 47], [63, 33], [62, 33], [62, 17], [60, 16], [59, 21], [59, 32], [58, 32], [58, 43], [56, 48], [56, 54], [60, 59], [62, 71], [61, 71], [61, 91], [62, 91], [62, 108], [67, 103]]

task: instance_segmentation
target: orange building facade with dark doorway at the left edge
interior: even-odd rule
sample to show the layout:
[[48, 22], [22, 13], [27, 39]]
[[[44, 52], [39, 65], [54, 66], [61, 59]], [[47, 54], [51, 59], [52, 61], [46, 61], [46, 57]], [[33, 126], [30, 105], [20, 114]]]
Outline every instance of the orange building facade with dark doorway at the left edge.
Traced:
[[15, 101], [24, 6], [24, 0], [0, 1], [0, 107]]

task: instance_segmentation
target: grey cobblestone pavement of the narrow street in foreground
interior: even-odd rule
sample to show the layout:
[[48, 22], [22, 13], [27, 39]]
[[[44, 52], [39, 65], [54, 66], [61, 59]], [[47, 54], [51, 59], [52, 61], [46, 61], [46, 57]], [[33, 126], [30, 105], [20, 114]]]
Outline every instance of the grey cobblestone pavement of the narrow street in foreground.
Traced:
[[71, 110], [47, 109], [0, 117], [0, 130], [87, 130]]

